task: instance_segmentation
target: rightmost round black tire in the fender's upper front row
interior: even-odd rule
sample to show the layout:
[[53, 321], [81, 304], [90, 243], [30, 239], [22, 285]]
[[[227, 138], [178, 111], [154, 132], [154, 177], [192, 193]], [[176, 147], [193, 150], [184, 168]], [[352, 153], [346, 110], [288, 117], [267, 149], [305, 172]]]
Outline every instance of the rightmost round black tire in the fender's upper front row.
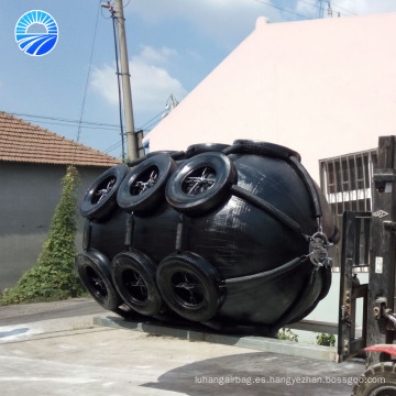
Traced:
[[224, 154], [198, 154], [170, 176], [166, 199], [179, 212], [201, 215], [224, 202], [237, 179], [235, 167]]

